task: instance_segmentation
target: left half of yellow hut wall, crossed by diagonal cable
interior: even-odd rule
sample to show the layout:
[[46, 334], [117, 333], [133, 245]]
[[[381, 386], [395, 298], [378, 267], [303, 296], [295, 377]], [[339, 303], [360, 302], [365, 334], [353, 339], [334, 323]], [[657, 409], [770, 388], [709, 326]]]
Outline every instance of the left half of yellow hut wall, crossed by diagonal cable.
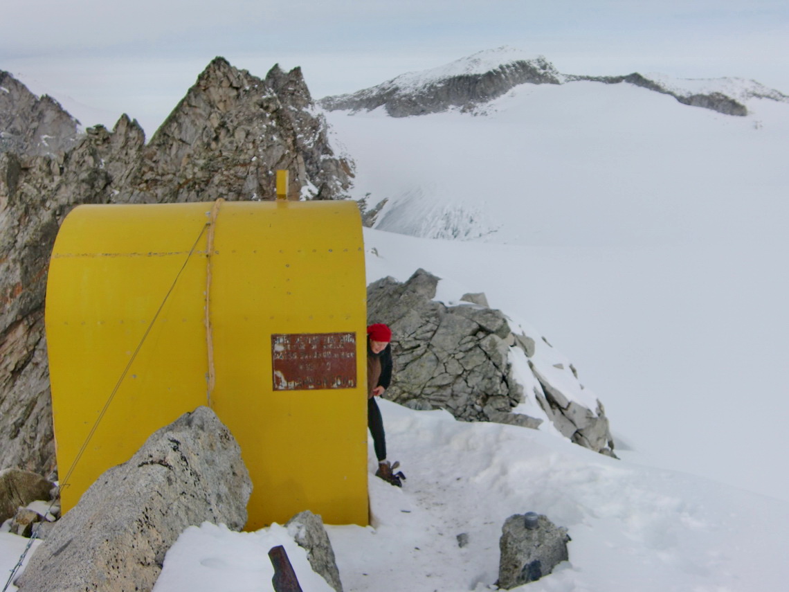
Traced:
[[82, 206], [63, 223], [46, 312], [61, 479], [117, 387], [62, 492], [66, 510], [155, 429], [206, 400], [203, 303], [194, 298], [205, 287], [204, 246], [184, 268], [193, 245], [200, 249], [205, 208], [165, 207], [151, 215], [148, 208]]

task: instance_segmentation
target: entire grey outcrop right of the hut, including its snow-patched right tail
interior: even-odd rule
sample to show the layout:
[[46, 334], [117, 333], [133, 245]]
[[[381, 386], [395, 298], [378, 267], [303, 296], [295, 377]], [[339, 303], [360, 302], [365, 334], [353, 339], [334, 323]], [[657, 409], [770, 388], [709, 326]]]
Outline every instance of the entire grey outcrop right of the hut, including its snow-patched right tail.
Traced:
[[[540, 339], [538, 345], [532, 337], [513, 331], [499, 310], [434, 301], [438, 282], [435, 275], [419, 269], [405, 283], [383, 278], [368, 286], [368, 322], [386, 323], [392, 329], [395, 370], [384, 394], [387, 399], [413, 409], [446, 409], [467, 422], [537, 428], [540, 418], [513, 412], [528, 397], [565, 437], [613, 455], [602, 405], [595, 400], [592, 410], [574, 400], [567, 391], [568, 384], [578, 384], [574, 369], [537, 355], [551, 348], [547, 342]], [[486, 302], [484, 294], [467, 297]], [[521, 350], [529, 360], [526, 384], [514, 376], [510, 350]]]

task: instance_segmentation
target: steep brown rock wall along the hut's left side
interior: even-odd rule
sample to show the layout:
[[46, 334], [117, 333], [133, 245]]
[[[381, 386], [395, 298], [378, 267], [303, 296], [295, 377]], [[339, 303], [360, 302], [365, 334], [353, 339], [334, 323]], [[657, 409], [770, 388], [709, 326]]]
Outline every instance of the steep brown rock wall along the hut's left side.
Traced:
[[43, 323], [47, 266], [66, 213], [112, 197], [103, 156], [111, 139], [122, 136], [122, 123], [117, 135], [93, 129], [65, 155], [0, 154], [0, 466], [54, 471]]

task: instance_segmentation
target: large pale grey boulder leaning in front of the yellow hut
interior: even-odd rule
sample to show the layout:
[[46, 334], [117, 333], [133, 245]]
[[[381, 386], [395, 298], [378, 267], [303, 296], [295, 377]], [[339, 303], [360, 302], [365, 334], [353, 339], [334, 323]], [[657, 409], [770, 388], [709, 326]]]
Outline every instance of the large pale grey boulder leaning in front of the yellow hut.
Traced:
[[208, 407], [151, 435], [67, 512], [17, 579], [19, 590], [151, 590], [186, 526], [240, 530], [252, 493], [241, 449]]

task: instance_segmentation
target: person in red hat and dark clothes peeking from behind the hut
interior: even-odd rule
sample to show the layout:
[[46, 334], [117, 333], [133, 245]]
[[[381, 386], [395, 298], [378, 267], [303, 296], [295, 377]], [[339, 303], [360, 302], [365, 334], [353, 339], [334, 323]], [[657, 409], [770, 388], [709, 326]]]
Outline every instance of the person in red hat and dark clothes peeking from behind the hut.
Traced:
[[392, 465], [387, 460], [387, 440], [383, 433], [383, 418], [376, 403], [376, 397], [383, 395], [389, 388], [392, 378], [392, 332], [383, 323], [371, 324], [367, 328], [367, 426], [372, 434], [373, 448], [376, 450], [378, 470], [376, 477], [392, 485], [402, 487], [402, 473], [393, 473], [399, 463]]

